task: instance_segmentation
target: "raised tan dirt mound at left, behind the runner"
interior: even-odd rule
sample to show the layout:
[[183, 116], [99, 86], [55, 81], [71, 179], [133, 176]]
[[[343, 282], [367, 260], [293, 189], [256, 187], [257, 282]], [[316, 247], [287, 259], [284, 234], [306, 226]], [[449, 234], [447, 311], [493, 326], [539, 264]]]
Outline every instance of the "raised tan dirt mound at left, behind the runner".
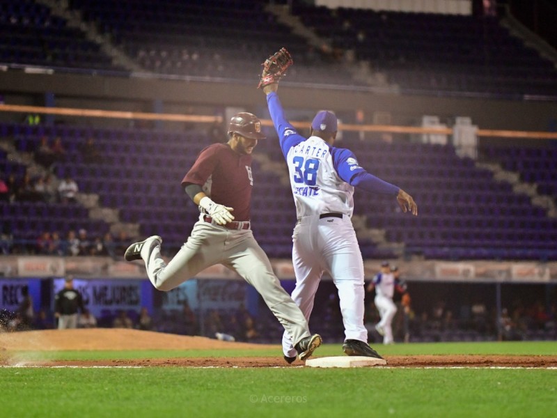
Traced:
[[252, 350], [276, 347], [264, 344], [219, 341], [205, 336], [185, 336], [124, 328], [0, 333], [0, 351]]

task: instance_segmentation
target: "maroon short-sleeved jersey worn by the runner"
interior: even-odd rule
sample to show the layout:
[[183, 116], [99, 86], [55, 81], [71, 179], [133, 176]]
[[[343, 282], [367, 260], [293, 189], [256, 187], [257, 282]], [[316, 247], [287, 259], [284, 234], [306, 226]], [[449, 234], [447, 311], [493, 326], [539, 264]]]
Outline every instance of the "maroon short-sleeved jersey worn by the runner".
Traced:
[[200, 185], [214, 203], [234, 208], [235, 221], [249, 221], [251, 206], [251, 155], [236, 153], [226, 144], [212, 144], [199, 153], [182, 180]]

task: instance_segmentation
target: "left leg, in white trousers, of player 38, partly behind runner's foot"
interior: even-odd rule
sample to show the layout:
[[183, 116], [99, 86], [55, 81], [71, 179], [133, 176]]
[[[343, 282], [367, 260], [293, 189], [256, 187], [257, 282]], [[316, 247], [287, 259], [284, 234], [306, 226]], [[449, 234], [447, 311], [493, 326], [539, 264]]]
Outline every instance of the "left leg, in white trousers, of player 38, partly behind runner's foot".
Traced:
[[[315, 292], [323, 275], [317, 251], [313, 251], [308, 242], [309, 231], [299, 228], [294, 231], [294, 245], [292, 246], [292, 263], [296, 276], [296, 287], [292, 291], [292, 300], [299, 306], [309, 322]], [[295, 357], [296, 350], [288, 332], [283, 334], [283, 352], [286, 357]]]

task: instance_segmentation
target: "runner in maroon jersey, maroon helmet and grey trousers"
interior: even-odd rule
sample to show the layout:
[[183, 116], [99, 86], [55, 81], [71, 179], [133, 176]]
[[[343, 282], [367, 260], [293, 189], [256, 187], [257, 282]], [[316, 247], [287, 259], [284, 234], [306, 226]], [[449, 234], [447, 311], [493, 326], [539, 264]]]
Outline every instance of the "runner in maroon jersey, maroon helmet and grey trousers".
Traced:
[[295, 341], [297, 357], [305, 360], [320, 346], [321, 337], [310, 334], [304, 314], [282, 288], [250, 228], [251, 153], [264, 138], [255, 115], [233, 116], [228, 142], [203, 149], [182, 180], [201, 215], [178, 254], [166, 264], [161, 256], [162, 238], [153, 235], [130, 245], [125, 259], [142, 259], [159, 291], [170, 291], [211, 265], [225, 265], [256, 288], [285, 334]]

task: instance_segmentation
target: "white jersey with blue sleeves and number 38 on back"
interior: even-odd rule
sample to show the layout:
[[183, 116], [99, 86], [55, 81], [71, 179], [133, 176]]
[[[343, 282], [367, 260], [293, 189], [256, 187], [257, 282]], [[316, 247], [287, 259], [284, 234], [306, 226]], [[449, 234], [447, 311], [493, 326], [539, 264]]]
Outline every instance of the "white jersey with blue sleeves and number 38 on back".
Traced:
[[398, 194], [399, 188], [360, 167], [351, 150], [336, 148], [320, 137], [306, 139], [285, 118], [278, 95], [267, 104], [288, 164], [297, 217], [337, 212], [352, 217], [354, 187], [368, 192]]

